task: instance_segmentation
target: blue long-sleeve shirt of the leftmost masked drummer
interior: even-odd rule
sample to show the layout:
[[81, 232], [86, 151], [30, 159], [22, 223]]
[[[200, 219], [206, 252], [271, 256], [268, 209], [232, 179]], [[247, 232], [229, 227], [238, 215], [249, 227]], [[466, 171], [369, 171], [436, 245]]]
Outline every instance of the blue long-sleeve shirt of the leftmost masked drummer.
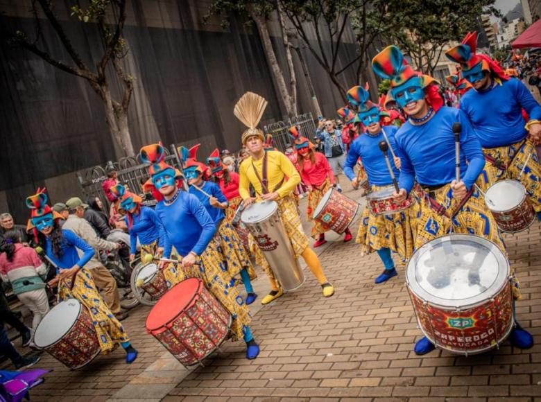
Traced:
[[[82, 238], [74, 234], [73, 231], [62, 229], [62, 255], [60, 257], [53, 254], [53, 245], [51, 238], [45, 238], [45, 254], [55, 263], [60, 270], [67, 270], [74, 265], [83, 268], [85, 264], [94, 256], [94, 249]], [[83, 252], [79, 257], [77, 249]], [[57, 270], [58, 273], [58, 270]]]

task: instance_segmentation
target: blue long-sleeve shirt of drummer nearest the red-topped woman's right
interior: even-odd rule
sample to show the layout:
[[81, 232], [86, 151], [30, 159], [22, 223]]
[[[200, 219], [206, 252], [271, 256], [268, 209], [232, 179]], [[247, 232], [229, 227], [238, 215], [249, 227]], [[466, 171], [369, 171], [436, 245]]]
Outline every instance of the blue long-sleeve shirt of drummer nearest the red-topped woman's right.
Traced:
[[[385, 131], [387, 138], [389, 140], [391, 148], [393, 151], [396, 149], [395, 143], [395, 133], [398, 128], [395, 125], [388, 125], [382, 130]], [[370, 184], [375, 184], [376, 186], [387, 186], [392, 184], [393, 180], [390, 178], [389, 170], [383, 155], [383, 152], [379, 149], [379, 143], [385, 141], [384, 134], [379, 132], [376, 136], [364, 132], [362, 135], [357, 137], [350, 146], [349, 152], [347, 152], [347, 159], [345, 160], [344, 173], [350, 179], [353, 180], [355, 173], [353, 168], [357, 164], [357, 159], [361, 158], [363, 161], [363, 166], [368, 175], [368, 182]], [[395, 151], [396, 152], [396, 151]], [[395, 166], [395, 161], [393, 161], [392, 154], [388, 152], [390, 166], [393, 167], [393, 173], [395, 177], [398, 178], [399, 171]]]

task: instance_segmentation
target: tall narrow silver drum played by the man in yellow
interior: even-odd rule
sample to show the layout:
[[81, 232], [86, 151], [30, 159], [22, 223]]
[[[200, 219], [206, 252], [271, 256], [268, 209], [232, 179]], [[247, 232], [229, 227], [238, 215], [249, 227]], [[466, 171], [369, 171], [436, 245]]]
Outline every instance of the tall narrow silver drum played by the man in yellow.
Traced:
[[241, 219], [254, 236], [282, 288], [294, 290], [302, 286], [304, 272], [295, 258], [293, 246], [280, 219], [278, 204], [274, 201], [252, 204], [244, 209]]

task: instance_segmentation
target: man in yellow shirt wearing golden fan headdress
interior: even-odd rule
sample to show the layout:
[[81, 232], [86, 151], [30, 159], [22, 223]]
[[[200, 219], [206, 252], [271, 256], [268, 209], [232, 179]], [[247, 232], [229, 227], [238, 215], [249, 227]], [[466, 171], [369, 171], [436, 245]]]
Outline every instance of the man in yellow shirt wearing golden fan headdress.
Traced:
[[[248, 101], [242, 102], [242, 100]], [[258, 109], [255, 107], [256, 105], [250, 104], [254, 100], [263, 106]], [[265, 137], [257, 125], [265, 106], [266, 100], [264, 98], [250, 92], [244, 94], [235, 106], [235, 116], [248, 127], [242, 134], [242, 143], [248, 148], [251, 155], [240, 166], [239, 192], [246, 207], [256, 200], [275, 200], [277, 202], [295, 256], [302, 256], [307, 263], [308, 268], [318, 279], [323, 296], [331, 297], [334, 294], [334, 288], [327, 281], [317, 254], [309, 247], [308, 238], [302, 231], [300, 216], [295, 204], [293, 190], [300, 182], [300, 175], [282, 152], [264, 149]], [[250, 184], [255, 189], [255, 198], [250, 196]], [[271, 292], [264, 298], [266, 302], [272, 302], [284, 294], [284, 290], [277, 285], [274, 279], [269, 278], [269, 280], [271, 281]]]

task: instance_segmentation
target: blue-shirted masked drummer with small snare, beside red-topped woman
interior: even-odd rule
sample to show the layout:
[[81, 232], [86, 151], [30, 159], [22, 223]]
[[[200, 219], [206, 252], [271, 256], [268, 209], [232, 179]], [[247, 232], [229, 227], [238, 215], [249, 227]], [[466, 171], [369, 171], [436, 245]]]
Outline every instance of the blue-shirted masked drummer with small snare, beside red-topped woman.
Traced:
[[[353, 168], [357, 159], [361, 158], [368, 175], [371, 191], [386, 189], [393, 184], [379, 143], [386, 141], [390, 149], [395, 150], [395, 125], [381, 127], [381, 117], [387, 114], [381, 112], [379, 107], [372, 103], [370, 94], [363, 87], [353, 87], [347, 91], [350, 103], [359, 110], [359, 119], [366, 127], [365, 132], [353, 141], [350, 152], [347, 152], [344, 173], [351, 180], [352, 186], [357, 189], [359, 177]], [[400, 158], [395, 157], [390, 162], [395, 177], [399, 177]], [[384, 283], [397, 276], [395, 263], [391, 252], [396, 252], [404, 260], [409, 259], [413, 252], [411, 227], [406, 212], [390, 215], [375, 215], [370, 212], [367, 205], [363, 211], [363, 218], [357, 233], [357, 243], [361, 244], [363, 253], [377, 252], [384, 264], [384, 270], [375, 279], [375, 283]]]

